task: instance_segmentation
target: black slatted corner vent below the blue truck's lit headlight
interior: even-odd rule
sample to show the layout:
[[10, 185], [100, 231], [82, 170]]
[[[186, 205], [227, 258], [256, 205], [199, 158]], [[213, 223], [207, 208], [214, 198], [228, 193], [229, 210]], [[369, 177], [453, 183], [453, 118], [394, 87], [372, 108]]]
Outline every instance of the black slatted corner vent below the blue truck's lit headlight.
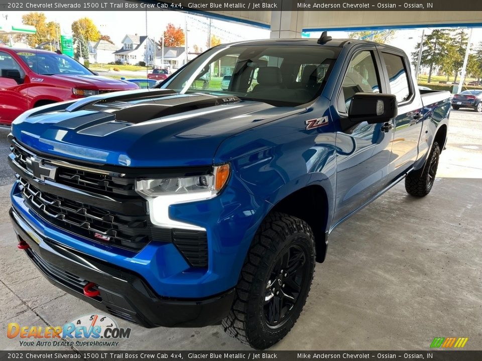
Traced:
[[175, 229], [172, 242], [192, 267], [207, 267], [207, 235], [205, 231]]

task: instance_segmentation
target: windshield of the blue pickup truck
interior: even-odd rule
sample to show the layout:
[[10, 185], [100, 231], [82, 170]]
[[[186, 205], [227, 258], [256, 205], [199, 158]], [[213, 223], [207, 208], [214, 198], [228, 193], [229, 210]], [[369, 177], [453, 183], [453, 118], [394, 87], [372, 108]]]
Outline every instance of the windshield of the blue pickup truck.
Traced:
[[[339, 51], [335, 47], [286, 45], [213, 48], [178, 71], [162, 88], [235, 95], [276, 106], [301, 105], [321, 93]], [[228, 85], [221, 85], [226, 81]]]

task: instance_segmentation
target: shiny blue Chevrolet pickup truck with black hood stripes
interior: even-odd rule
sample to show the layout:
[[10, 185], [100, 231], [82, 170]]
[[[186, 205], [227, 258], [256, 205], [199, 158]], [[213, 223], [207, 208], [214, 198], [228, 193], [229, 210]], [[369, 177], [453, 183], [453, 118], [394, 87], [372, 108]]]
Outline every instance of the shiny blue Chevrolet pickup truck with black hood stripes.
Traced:
[[259, 349], [338, 224], [401, 180], [430, 192], [451, 100], [420, 94], [403, 51], [326, 35], [217, 46], [157, 87], [14, 121], [18, 247], [100, 310]]

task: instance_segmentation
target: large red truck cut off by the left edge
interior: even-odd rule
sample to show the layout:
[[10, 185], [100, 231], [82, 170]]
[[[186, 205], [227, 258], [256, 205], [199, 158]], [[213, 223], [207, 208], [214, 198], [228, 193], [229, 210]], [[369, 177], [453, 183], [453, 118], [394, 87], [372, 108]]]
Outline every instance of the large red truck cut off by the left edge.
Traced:
[[37, 49], [0, 48], [0, 124], [50, 103], [139, 87], [92, 73], [74, 59]]

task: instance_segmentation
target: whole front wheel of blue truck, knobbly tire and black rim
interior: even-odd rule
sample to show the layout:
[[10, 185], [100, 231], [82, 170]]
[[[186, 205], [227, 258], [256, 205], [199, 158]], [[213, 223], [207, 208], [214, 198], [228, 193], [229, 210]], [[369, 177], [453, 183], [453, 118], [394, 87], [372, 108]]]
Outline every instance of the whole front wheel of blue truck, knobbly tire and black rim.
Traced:
[[241, 270], [224, 331], [257, 349], [281, 340], [303, 309], [314, 266], [308, 224], [283, 213], [267, 216]]

